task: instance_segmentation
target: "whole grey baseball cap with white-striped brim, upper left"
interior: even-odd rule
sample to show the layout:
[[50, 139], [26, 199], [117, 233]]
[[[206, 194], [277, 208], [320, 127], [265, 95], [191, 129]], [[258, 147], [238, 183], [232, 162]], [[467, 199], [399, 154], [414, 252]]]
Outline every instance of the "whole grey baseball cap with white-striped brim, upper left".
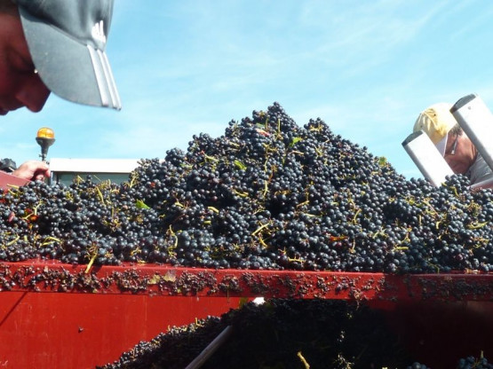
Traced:
[[121, 109], [105, 52], [113, 0], [14, 0], [37, 73], [76, 103]]

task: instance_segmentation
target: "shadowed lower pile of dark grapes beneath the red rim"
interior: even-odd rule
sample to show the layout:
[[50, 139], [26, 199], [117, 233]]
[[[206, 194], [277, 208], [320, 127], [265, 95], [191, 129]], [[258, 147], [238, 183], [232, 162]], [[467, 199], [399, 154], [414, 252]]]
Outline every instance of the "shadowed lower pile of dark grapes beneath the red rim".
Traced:
[[[173, 327], [99, 369], [187, 367], [227, 326], [231, 334], [203, 369], [429, 369], [413, 361], [381, 310], [336, 300], [284, 299], [249, 302], [221, 317]], [[442, 355], [435, 362], [457, 365], [437, 367], [493, 369], [486, 357], [454, 357], [449, 349]]]

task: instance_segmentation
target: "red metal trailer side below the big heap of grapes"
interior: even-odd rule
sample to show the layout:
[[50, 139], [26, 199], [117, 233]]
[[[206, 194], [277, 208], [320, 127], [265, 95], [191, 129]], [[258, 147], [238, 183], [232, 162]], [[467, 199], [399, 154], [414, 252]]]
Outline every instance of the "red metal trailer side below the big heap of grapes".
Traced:
[[[0, 185], [23, 185], [4, 176]], [[6, 368], [104, 365], [169, 326], [218, 316], [257, 296], [369, 304], [433, 368], [454, 365], [444, 362], [450, 352], [493, 357], [493, 273], [88, 269], [30, 260], [0, 263], [0, 291], [0, 367]]]

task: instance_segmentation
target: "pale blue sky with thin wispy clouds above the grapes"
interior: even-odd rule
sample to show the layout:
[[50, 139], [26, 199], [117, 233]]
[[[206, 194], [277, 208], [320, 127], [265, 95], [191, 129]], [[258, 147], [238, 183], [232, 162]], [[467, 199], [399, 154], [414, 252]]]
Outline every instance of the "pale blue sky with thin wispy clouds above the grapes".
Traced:
[[120, 112], [51, 96], [0, 117], [1, 157], [163, 158], [194, 134], [278, 101], [420, 173], [402, 148], [417, 114], [477, 93], [493, 109], [493, 2], [115, 0], [107, 54]]

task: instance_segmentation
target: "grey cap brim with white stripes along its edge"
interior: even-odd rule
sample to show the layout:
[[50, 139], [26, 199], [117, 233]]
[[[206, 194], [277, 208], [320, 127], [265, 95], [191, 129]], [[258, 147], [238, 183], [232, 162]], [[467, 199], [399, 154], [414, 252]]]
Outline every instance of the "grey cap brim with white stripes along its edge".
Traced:
[[76, 41], [21, 7], [19, 12], [29, 52], [48, 89], [79, 104], [122, 108], [104, 51]]

